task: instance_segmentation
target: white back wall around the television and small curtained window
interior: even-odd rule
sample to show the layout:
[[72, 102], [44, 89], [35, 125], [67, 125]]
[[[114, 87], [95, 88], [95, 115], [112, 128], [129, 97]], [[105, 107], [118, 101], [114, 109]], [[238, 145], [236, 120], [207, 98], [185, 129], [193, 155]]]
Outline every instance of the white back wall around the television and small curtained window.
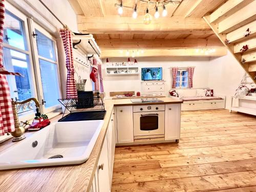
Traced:
[[[172, 87], [172, 73], [168, 68], [195, 66], [194, 88], [208, 87], [209, 57], [141, 57], [136, 58], [138, 65], [143, 67], [162, 67], [163, 80], [166, 81], [166, 96]], [[106, 96], [115, 91], [141, 91], [141, 74], [139, 75], [106, 75], [105, 59], [103, 60], [103, 81]], [[127, 61], [127, 58], [109, 58], [110, 62]], [[134, 58], [131, 58], [134, 61]]]

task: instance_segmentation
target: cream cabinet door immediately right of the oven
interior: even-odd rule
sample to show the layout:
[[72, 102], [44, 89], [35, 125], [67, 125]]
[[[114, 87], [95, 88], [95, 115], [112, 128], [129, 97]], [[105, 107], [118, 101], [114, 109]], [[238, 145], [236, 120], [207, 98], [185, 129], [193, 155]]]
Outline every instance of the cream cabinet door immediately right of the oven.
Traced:
[[165, 105], [165, 140], [180, 139], [180, 108], [181, 104]]

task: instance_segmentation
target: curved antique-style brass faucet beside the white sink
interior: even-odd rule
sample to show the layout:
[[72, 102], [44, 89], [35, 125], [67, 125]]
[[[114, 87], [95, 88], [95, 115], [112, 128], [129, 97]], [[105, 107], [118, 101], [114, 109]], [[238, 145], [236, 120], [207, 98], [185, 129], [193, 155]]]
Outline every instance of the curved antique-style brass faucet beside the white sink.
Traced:
[[17, 104], [24, 104], [30, 101], [34, 101], [35, 102], [35, 106], [36, 106], [36, 113], [39, 113], [39, 109], [40, 109], [40, 103], [38, 102], [38, 100], [36, 98], [29, 98], [26, 99], [24, 101], [14, 101], [12, 99], [12, 112], [13, 112], [13, 117], [14, 117], [14, 126], [15, 126], [15, 131], [11, 132], [11, 135], [14, 137], [12, 139], [13, 142], [15, 141], [20, 141], [26, 138], [25, 135], [23, 135], [25, 133], [25, 126], [28, 125], [28, 121], [26, 122], [22, 122], [23, 125], [20, 126], [19, 121], [18, 121], [18, 114], [16, 111], [16, 105]]

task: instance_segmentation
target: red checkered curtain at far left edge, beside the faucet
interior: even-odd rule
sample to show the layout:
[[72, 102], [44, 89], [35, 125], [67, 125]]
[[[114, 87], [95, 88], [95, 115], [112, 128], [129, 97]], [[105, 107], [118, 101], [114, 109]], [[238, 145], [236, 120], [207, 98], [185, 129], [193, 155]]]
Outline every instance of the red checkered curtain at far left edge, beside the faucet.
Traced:
[[[3, 36], [4, 36], [5, 5], [0, 0], [0, 136], [14, 131], [14, 119], [12, 113], [11, 96], [6, 76], [9, 74], [3, 65]], [[2, 72], [2, 73], [1, 73]], [[15, 75], [15, 73], [13, 73]]]

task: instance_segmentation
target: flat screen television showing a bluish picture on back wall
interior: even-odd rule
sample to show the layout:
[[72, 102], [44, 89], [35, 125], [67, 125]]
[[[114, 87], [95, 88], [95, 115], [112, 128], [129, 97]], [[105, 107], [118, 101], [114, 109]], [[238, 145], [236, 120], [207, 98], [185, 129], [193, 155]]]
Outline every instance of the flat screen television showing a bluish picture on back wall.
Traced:
[[162, 68], [141, 68], [141, 80], [162, 80]]

